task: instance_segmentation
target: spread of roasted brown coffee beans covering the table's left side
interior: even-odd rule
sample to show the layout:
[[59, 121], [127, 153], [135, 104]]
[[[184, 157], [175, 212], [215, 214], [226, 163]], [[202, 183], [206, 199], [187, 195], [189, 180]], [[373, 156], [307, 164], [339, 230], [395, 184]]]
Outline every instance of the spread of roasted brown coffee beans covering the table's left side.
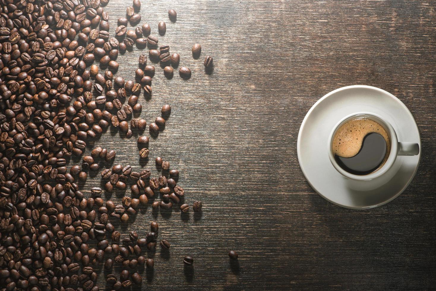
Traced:
[[[150, 48], [149, 58], [166, 64], [164, 75], [173, 75], [180, 55], [160, 45], [150, 35], [150, 25], [141, 21], [141, 2], [133, 0], [126, 17], [118, 19], [116, 34], [109, 34], [108, 0], [2, 0], [0, 11], [0, 288], [1, 290], [86, 290], [96, 291], [98, 270], [120, 264], [120, 274], [106, 276], [114, 290], [141, 284], [137, 266], [152, 269], [154, 261], [141, 255], [142, 248], [154, 250], [158, 224], [152, 222], [146, 237], [138, 238], [115, 230], [113, 219], [126, 223], [138, 206], [160, 193], [153, 209], [181, 212], [184, 189], [177, 185], [179, 171], [170, 162], [156, 158], [163, 173], [151, 177], [150, 169], [134, 170], [116, 164], [101, 172], [104, 190], [79, 189], [103, 165], [116, 160], [116, 152], [100, 146], [83, 156], [86, 143], [97, 139], [112, 126], [127, 138], [132, 129], [144, 131], [146, 120], [132, 118], [141, 112], [138, 95], [151, 95], [155, 67], [139, 56], [135, 74], [139, 83], [116, 76], [119, 53], [128, 47]], [[168, 11], [171, 21], [177, 13]], [[127, 30], [126, 25], [136, 26]], [[158, 24], [160, 35], [167, 26]], [[192, 48], [195, 58], [201, 46]], [[99, 65], [94, 64], [97, 62]], [[211, 68], [212, 58], [204, 66]], [[182, 78], [191, 70], [182, 66]], [[127, 103], [126, 103], [127, 99]], [[161, 109], [149, 125], [150, 134], [164, 128], [170, 105]], [[147, 159], [149, 137], [137, 140], [139, 158]], [[81, 165], [70, 165], [71, 156], [83, 156]], [[69, 167], [69, 169], [68, 169]], [[124, 191], [130, 196], [121, 204], [104, 201], [102, 192]], [[201, 212], [201, 201], [193, 203]], [[109, 238], [110, 237], [110, 238]], [[109, 243], [109, 240], [111, 243]], [[95, 245], [95, 247], [93, 247]], [[160, 240], [162, 251], [170, 249]], [[193, 263], [185, 257], [185, 264]], [[130, 271], [129, 271], [130, 270]]]

